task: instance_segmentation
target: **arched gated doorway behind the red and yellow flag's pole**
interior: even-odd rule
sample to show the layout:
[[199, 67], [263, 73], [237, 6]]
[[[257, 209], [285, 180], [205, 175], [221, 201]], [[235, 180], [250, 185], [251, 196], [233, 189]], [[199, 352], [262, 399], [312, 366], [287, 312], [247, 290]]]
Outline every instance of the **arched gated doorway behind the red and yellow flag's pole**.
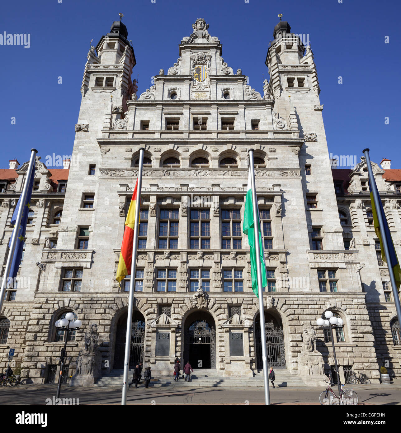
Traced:
[[[124, 367], [125, 336], [127, 335], [127, 316], [123, 314], [117, 323], [114, 350], [114, 368]], [[129, 355], [129, 367], [134, 368], [144, 358], [145, 318], [139, 311], [132, 315], [131, 349]]]

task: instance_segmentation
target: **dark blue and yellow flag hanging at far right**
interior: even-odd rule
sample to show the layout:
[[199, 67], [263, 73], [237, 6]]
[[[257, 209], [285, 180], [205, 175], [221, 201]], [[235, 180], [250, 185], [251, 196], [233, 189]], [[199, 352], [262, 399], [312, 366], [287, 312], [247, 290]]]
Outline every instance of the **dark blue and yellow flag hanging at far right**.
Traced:
[[[375, 181], [375, 180], [373, 180], [373, 181]], [[382, 259], [384, 262], [387, 263], [387, 259], [386, 259], [386, 255], [385, 255], [385, 251], [384, 251], [384, 247], [383, 247], [383, 236], [385, 236], [385, 238], [387, 240], [387, 245], [388, 245], [388, 252], [390, 255], [390, 263], [387, 263], [387, 265], [389, 265], [394, 271], [395, 284], [397, 285], [397, 289], [398, 289], [400, 287], [400, 284], [401, 284], [400, 262], [398, 262], [398, 257], [397, 257], [397, 253], [395, 252], [393, 239], [391, 238], [390, 229], [388, 228], [388, 222], [387, 222], [386, 215], [385, 215], [385, 212], [383, 209], [382, 200], [379, 200], [379, 203], [377, 204], [379, 209], [376, 209], [376, 204], [375, 204], [375, 200], [373, 199], [373, 193], [372, 193], [372, 187], [370, 185], [370, 181], [369, 181], [369, 190], [371, 191], [370, 192], [370, 201], [372, 204], [373, 225], [375, 226], [376, 236], [379, 238], [379, 241], [380, 241], [380, 250], [382, 252]], [[380, 232], [379, 218], [377, 216], [378, 211], [382, 215], [382, 220], [383, 220], [383, 224], [384, 224], [384, 233]]]

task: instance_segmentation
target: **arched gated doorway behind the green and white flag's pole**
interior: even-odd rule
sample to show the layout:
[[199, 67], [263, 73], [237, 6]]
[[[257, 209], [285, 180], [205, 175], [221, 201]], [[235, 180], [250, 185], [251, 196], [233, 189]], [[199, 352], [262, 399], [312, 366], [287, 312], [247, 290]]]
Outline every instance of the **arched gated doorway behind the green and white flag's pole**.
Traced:
[[[284, 333], [281, 320], [277, 320], [265, 311], [267, 364], [269, 367], [286, 368], [286, 350], [284, 347]], [[256, 366], [258, 370], [263, 368], [262, 338], [260, 335], [259, 314], [255, 320], [255, 349]]]

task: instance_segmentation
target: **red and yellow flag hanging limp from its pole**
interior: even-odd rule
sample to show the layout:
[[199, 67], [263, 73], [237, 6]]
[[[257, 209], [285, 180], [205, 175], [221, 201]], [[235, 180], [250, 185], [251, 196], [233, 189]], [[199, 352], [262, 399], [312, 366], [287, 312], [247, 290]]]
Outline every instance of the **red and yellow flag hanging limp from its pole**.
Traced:
[[[134, 192], [132, 194], [131, 203], [129, 204], [127, 218], [125, 219], [124, 237], [122, 238], [121, 253], [119, 259], [119, 267], [115, 279], [120, 283], [127, 275], [131, 273], [132, 264], [132, 247], [134, 243], [134, 227], [135, 227], [135, 209], [136, 209], [136, 194], [138, 188], [138, 179], [136, 180]], [[140, 200], [140, 199], [139, 199]], [[139, 225], [140, 221], [138, 221]]]

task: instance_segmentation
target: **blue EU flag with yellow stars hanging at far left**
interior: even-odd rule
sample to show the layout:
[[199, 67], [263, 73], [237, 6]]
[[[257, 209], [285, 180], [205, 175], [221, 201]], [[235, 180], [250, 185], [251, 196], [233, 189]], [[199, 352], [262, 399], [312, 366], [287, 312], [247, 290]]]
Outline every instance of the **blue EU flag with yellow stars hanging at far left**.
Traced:
[[[24, 211], [22, 213], [22, 218], [21, 218], [21, 224], [18, 227], [17, 242], [16, 242], [16, 246], [14, 249], [13, 261], [11, 262], [10, 274], [8, 275], [9, 278], [15, 278], [16, 277], [18, 269], [19, 269], [19, 264], [21, 263], [22, 250], [24, 248], [26, 223], [28, 221], [28, 212], [29, 212], [29, 206], [30, 206], [31, 197], [32, 197], [33, 180], [35, 179], [35, 165], [36, 165], [36, 161], [33, 162], [33, 170], [32, 170], [31, 178], [29, 180], [26, 180], [27, 182], [29, 182], [29, 184], [28, 184], [28, 192], [26, 194], [25, 203], [21, 203], [21, 197], [19, 197], [17, 206], [16, 206], [14, 213], [13, 213], [13, 217], [11, 218], [11, 224], [14, 225], [14, 229], [13, 229], [13, 233], [14, 233], [14, 230], [17, 229], [15, 226], [15, 223], [17, 220], [19, 207], [20, 206], [24, 207]], [[8, 246], [9, 247], [11, 246], [11, 239], [10, 239], [10, 243], [8, 244]]]

